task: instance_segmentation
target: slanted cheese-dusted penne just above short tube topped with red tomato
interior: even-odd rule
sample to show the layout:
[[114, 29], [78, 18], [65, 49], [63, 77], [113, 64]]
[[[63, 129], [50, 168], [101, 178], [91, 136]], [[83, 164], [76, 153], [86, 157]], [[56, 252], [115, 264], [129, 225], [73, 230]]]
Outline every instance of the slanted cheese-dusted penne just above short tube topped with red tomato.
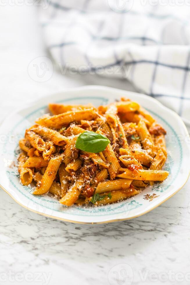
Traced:
[[141, 164], [146, 165], [148, 167], [150, 167], [150, 163], [153, 161], [153, 158], [148, 155], [148, 153], [144, 150], [139, 150], [139, 149], [123, 149], [120, 148], [119, 152], [121, 153], [121, 155], [129, 155], [131, 157], [134, 157], [135, 159], [137, 159]]

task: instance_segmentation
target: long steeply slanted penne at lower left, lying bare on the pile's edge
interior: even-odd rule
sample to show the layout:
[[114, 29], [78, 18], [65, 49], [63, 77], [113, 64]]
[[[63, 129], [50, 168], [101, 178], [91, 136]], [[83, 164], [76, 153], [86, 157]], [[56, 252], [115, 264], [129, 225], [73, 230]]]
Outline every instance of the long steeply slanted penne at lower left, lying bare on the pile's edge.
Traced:
[[50, 159], [46, 171], [40, 181], [40, 184], [36, 187], [36, 190], [33, 192], [34, 195], [40, 195], [47, 193], [51, 187], [53, 180], [58, 172], [60, 164], [62, 162], [62, 154], [55, 156]]

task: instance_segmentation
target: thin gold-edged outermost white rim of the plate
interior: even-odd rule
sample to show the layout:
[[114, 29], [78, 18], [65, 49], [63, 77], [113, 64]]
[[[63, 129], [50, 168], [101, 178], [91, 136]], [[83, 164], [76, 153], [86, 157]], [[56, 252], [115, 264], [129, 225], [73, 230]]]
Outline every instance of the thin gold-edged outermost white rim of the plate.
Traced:
[[[190, 138], [189, 136], [189, 133], [187, 131], [187, 127], [185, 126], [182, 118], [177, 114], [175, 113], [173, 110], [169, 109], [168, 107], [164, 106], [161, 102], [159, 102], [157, 99], [153, 98], [153, 97], [150, 97], [148, 95], [145, 95], [145, 94], [141, 94], [141, 93], [138, 93], [138, 92], [132, 92], [132, 91], [128, 91], [128, 90], [121, 90], [121, 89], [118, 89], [118, 88], [112, 88], [112, 87], [107, 87], [107, 86], [101, 86], [101, 85], [85, 85], [85, 86], [80, 86], [80, 87], [76, 87], [76, 88], [66, 88], [66, 89], [63, 89], [62, 91], [60, 92], [54, 92], [54, 93], [49, 93], [47, 96], [43, 97], [43, 98], [40, 98], [36, 101], [33, 101], [31, 102], [30, 104], [27, 104], [24, 108], [17, 108], [14, 112], [12, 112], [10, 115], [6, 116], [4, 118], [4, 120], [2, 120], [1, 124], [0, 124], [0, 129], [1, 127], [3, 126], [3, 123], [6, 123], [6, 120], [9, 119], [9, 117], [12, 117], [14, 116], [15, 114], [17, 114], [18, 112], [21, 112], [21, 111], [26, 111], [26, 109], [28, 108], [31, 108], [34, 107], [35, 105], [37, 104], [42, 104], [42, 102], [44, 101], [44, 99], [48, 100], [49, 97], [52, 97], [52, 96], [59, 96], [63, 93], [66, 93], [66, 92], [80, 92], [82, 90], [105, 90], [105, 91], [109, 91], [111, 90], [112, 92], [127, 92], [128, 94], [135, 94], [139, 97], [145, 97], [146, 99], [148, 98], [150, 101], [154, 101], [156, 102], [156, 104], [159, 104], [162, 108], [164, 108], [167, 112], [169, 113], [172, 113], [172, 115], [175, 115], [175, 117], [177, 118], [177, 120], [180, 120], [180, 122], [182, 123], [183, 125], [183, 128], [184, 128], [184, 131], [185, 133], [187, 134], [187, 136]], [[98, 96], [97, 96], [98, 97]], [[190, 150], [190, 147], [189, 147], [189, 150]], [[69, 219], [65, 219], [65, 218], [61, 218], [61, 217], [58, 217], [58, 216], [54, 216], [54, 215], [49, 215], [49, 214], [46, 214], [46, 213], [42, 213], [42, 212], [39, 212], [39, 211], [36, 211], [36, 210], [33, 210], [27, 206], [25, 206], [24, 204], [22, 204], [21, 202], [19, 202], [12, 194], [9, 193], [8, 190], [6, 190], [2, 185], [1, 185], [1, 182], [0, 182], [0, 187], [15, 201], [17, 202], [20, 206], [24, 207], [25, 209], [29, 210], [29, 211], [32, 211], [34, 213], [37, 213], [37, 214], [40, 214], [40, 215], [43, 215], [45, 217], [48, 217], [48, 218], [54, 218], [54, 219], [57, 219], [57, 220], [62, 220], [62, 221], [65, 221], [65, 222], [72, 222], [72, 223], [78, 223], [78, 224], [103, 224], [103, 223], [110, 223], [110, 222], [116, 222], [116, 221], [123, 221], [123, 220], [130, 220], [130, 219], [133, 219], [133, 218], [137, 218], [141, 215], [144, 215], [150, 211], [152, 211], [153, 209], [155, 209], [156, 207], [160, 206], [162, 203], [164, 203], [166, 200], [168, 200], [169, 198], [171, 198], [173, 195], [175, 195], [180, 189], [182, 189], [182, 187], [187, 183], [188, 179], [189, 179], [189, 175], [190, 175], [190, 170], [189, 170], [189, 173], [187, 175], [187, 179], [184, 181], [184, 183], [182, 184], [182, 186], [180, 186], [180, 188], [178, 188], [174, 193], [172, 193], [169, 197], [166, 197], [165, 200], [161, 201], [160, 203], [156, 204], [155, 206], [151, 207], [150, 209], [148, 209], [147, 211], [144, 211], [138, 215], [134, 215], [134, 216], [131, 216], [129, 218], [116, 218], [116, 219], [110, 219], [110, 220], [107, 220], [107, 221], [100, 221], [100, 222], [80, 222], [80, 221], [75, 221], [75, 220], [69, 220]]]

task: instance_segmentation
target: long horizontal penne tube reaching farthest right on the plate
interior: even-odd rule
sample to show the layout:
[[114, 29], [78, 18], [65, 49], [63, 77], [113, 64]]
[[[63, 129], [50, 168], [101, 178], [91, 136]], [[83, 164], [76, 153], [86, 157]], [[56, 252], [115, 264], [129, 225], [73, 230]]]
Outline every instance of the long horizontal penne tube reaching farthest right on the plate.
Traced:
[[169, 174], [168, 171], [164, 170], [129, 170], [126, 168], [120, 168], [119, 171], [124, 172], [122, 174], [118, 174], [117, 177], [143, 181], [163, 181]]

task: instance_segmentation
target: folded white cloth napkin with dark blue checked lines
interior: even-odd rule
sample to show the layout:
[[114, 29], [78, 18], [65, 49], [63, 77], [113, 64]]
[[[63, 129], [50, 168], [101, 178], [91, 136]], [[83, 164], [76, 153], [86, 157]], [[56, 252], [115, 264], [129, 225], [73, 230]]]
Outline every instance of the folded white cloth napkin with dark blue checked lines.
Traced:
[[45, 42], [60, 67], [129, 80], [190, 124], [189, 0], [50, 0], [42, 7]]

